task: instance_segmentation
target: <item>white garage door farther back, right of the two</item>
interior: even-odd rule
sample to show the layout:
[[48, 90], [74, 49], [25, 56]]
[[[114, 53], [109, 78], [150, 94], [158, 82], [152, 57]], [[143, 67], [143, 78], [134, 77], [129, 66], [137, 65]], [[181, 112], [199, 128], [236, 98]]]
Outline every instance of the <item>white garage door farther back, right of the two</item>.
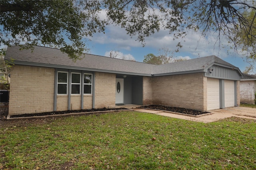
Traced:
[[225, 107], [235, 106], [235, 90], [234, 81], [224, 81], [224, 96], [225, 96]]

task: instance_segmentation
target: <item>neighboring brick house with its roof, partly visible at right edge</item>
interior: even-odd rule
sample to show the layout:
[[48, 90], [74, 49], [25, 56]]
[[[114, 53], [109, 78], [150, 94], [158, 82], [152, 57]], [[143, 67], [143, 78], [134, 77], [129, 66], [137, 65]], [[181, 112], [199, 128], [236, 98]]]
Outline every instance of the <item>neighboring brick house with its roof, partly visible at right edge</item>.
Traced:
[[250, 74], [243, 74], [240, 81], [240, 102], [255, 104], [256, 93], [256, 76]]

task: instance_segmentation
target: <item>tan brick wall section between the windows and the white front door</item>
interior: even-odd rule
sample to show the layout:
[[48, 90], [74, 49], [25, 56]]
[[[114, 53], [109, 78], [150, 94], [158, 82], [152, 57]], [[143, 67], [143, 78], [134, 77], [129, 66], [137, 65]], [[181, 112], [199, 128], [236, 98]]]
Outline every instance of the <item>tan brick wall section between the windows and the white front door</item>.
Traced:
[[116, 106], [116, 74], [95, 72], [95, 108]]

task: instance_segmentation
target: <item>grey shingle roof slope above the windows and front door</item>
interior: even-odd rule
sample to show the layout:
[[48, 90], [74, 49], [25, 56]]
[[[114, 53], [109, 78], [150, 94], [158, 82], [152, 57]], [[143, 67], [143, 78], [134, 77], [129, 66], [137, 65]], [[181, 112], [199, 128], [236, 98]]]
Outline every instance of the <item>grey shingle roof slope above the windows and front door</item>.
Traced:
[[73, 62], [66, 53], [59, 49], [49, 47], [34, 46], [31, 49], [19, 50], [18, 46], [8, 47], [5, 59], [13, 58], [15, 62], [41, 63], [48, 65], [71, 66], [74, 68], [89, 68], [94, 70], [111, 70], [117, 72], [130, 72], [138, 74], [151, 74], [152, 64], [145, 64], [134, 61], [102, 57], [98, 55], [84, 54], [82, 60]]

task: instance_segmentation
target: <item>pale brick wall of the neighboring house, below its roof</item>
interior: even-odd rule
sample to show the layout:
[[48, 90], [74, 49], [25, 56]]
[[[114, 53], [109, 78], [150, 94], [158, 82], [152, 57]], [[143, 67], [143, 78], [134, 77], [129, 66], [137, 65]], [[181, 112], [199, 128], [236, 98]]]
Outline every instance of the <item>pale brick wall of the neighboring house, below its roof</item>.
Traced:
[[240, 81], [240, 102], [254, 104], [256, 80]]

